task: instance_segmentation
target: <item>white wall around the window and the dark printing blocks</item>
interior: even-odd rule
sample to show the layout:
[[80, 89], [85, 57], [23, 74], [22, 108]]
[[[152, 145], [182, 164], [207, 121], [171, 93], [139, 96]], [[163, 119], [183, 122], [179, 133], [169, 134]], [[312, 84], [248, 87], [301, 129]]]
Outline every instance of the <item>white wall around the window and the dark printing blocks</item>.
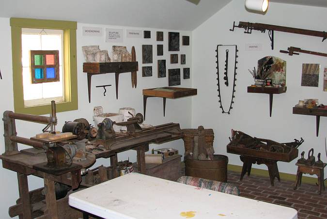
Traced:
[[[114, 27], [124, 29], [124, 43], [113, 44], [106, 43], [105, 36], [102, 37], [89, 37], [82, 36], [83, 26], [95, 26], [103, 28], [111, 28], [109, 26], [103, 25], [93, 25], [93, 24], [80, 24], [78, 23], [77, 30], [77, 59], [78, 59], [78, 110], [57, 113], [58, 126], [57, 129], [61, 129], [65, 121], [72, 121], [77, 118], [86, 118], [90, 123], [93, 123], [93, 107], [103, 106], [105, 112], [118, 112], [121, 107], [132, 107], [136, 109], [136, 112], [143, 113], [143, 98], [142, 89], [146, 88], [156, 88], [168, 86], [168, 69], [170, 68], [181, 68], [181, 87], [190, 87], [191, 80], [183, 79], [183, 67], [191, 67], [191, 46], [180, 46], [179, 52], [168, 52], [168, 31], [171, 30], [156, 30], [147, 28], [129, 28], [129, 27]], [[11, 55], [11, 34], [10, 34], [10, 24], [9, 18], [0, 18], [0, 69], [3, 79], [0, 80], [0, 93], [2, 94], [0, 105], [0, 112], [5, 110], [14, 110], [14, 99], [13, 99], [13, 78], [12, 78], [12, 55]], [[130, 39], [125, 37], [126, 29], [136, 29], [136, 30], [150, 30], [151, 39]], [[156, 41], [156, 31], [164, 31], [164, 42]], [[189, 35], [191, 39], [190, 31], [179, 31], [180, 38], [182, 35]], [[144, 64], [153, 66], [153, 76], [148, 78], [141, 77], [142, 61], [141, 61], [141, 45], [151, 44], [153, 45], [153, 64]], [[164, 44], [164, 56], [156, 56], [156, 44]], [[86, 73], [82, 72], [82, 64], [84, 62], [84, 57], [82, 53], [82, 46], [99, 45], [101, 49], [108, 49], [111, 52], [112, 46], [126, 46], [128, 51], [131, 51], [131, 47], [135, 46], [137, 61], [139, 62], [139, 72], [137, 89], [132, 89], [131, 86], [131, 74], [124, 73], [120, 75], [119, 78], [119, 92], [118, 100], [116, 100], [115, 94], [115, 76], [114, 74], [105, 74], [99, 76], [93, 76], [92, 78], [92, 98], [91, 104], [88, 102], [88, 89], [87, 89], [87, 76]], [[170, 64], [170, 54], [186, 54], [186, 65], [180, 64]], [[167, 77], [157, 78], [157, 66], [156, 61], [158, 59], [166, 59], [167, 65]], [[180, 59], [180, 55], [179, 55]], [[180, 62], [180, 61], [179, 61]], [[193, 76], [193, 71], [191, 69], [191, 77]], [[111, 87], [107, 87], [106, 96], [103, 96], [102, 88], [95, 88], [96, 85], [112, 84]], [[18, 86], [18, 85], [15, 85]], [[147, 101], [147, 113], [145, 124], [160, 125], [165, 123], [179, 123], [181, 128], [189, 128], [191, 126], [191, 98], [181, 98], [178, 100], [167, 99], [166, 103], [166, 117], [163, 117], [163, 107], [162, 98], [149, 98]], [[17, 133], [18, 136], [31, 137], [36, 133], [40, 133], [44, 125], [32, 124], [27, 122], [17, 121]], [[2, 123], [1, 123], [2, 124]], [[0, 125], [0, 133], [3, 133], [3, 125]], [[0, 147], [0, 153], [4, 152], [4, 140], [3, 135], [0, 135], [0, 142], [2, 146]], [[151, 148], [155, 146], [160, 147], [174, 147], [180, 151], [180, 154], [184, 154], [184, 143], [182, 140], [173, 141], [170, 143], [162, 145], [150, 145]], [[19, 145], [19, 148], [24, 146]], [[131, 161], [136, 161], [136, 152], [128, 151], [126, 153], [121, 153], [118, 155], [119, 160], [125, 160], [129, 157]], [[109, 165], [109, 159], [100, 159], [95, 165], [104, 164]], [[16, 203], [18, 198], [18, 187], [16, 173], [0, 168], [0, 218], [9, 218], [8, 208]], [[29, 186], [30, 190], [35, 188], [40, 188], [43, 186], [43, 180], [29, 176]]]

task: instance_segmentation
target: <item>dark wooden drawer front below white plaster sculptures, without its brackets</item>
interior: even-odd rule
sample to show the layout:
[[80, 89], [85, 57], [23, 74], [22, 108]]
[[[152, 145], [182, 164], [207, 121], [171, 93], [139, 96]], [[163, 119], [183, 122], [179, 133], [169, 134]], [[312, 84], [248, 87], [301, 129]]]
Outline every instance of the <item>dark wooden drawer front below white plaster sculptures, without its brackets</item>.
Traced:
[[124, 73], [138, 71], [138, 62], [83, 63], [83, 72], [92, 74]]

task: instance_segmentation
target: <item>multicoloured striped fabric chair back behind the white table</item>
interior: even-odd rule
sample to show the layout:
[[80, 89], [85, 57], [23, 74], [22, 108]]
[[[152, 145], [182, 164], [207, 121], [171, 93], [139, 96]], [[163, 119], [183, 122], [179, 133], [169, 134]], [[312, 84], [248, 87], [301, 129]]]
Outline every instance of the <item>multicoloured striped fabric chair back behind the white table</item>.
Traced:
[[232, 195], [240, 195], [238, 188], [229, 183], [222, 183], [215, 180], [197, 178], [193, 176], [181, 176], [177, 180], [178, 183], [187, 184], [199, 188], [206, 188], [214, 191], [224, 192]]

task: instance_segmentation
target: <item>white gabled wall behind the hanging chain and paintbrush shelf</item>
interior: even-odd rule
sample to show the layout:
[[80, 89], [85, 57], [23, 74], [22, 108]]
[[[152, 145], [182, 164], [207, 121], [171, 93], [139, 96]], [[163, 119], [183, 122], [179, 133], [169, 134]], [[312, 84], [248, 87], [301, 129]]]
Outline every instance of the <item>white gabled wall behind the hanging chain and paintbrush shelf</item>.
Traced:
[[[205, 128], [214, 129], [216, 153], [227, 155], [226, 145], [233, 128], [251, 136], [278, 142], [289, 142], [303, 137], [304, 143], [300, 146], [299, 152], [305, 151], [307, 156], [308, 150], [313, 147], [314, 155], [321, 152], [321, 157], [326, 162], [324, 141], [327, 119], [321, 117], [319, 137], [316, 137], [314, 116], [292, 114], [292, 107], [300, 99], [318, 98], [321, 103], [327, 104], [327, 93], [323, 92], [323, 68], [327, 66], [326, 58], [307, 54], [288, 56], [280, 53], [279, 50], [286, 50], [287, 47], [293, 46], [327, 52], [327, 42], [321, 42], [322, 38], [318, 37], [275, 31], [275, 49], [271, 50], [267, 32], [264, 34], [260, 31], [252, 31], [252, 34], [245, 34], [243, 29], [238, 28], [235, 28], [234, 32], [229, 31], [233, 26], [233, 21], [236, 21], [236, 25], [238, 21], [249, 21], [326, 31], [326, 25], [322, 25], [326, 18], [326, 8], [280, 3], [270, 3], [265, 15], [253, 14], [246, 11], [244, 0], [233, 0], [193, 31], [192, 64], [195, 74], [192, 78], [192, 87], [197, 87], [199, 92], [192, 99], [192, 126], [204, 125]], [[263, 51], [245, 51], [246, 43], [260, 43], [263, 44], [264, 49]], [[239, 48], [236, 97], [230, 115], [222, 114], [218, 105], [215, 49], [219, 44], [237, 44]], [[257, 60], [270, 55], [287, 62], [287, 92], [274, 95], [271, 118], [269, 117], [269, 95], [247, 93], [247, 86], [254, 83], [248, 69], [257, 66]], [[224, 62], [225, 57], [222, 57], [221, 61]], [[302, 63], [321, 64], [319, 87], [300, 86]], [[220, 83], [223, 84], [223, 82]], [[221, 95], [224, 105], [228, 105], [230, 94], [223, 94], [222, 91]], [[228, 154], [228, 157], [230, 164], [242, 165], [239, 156]], [[296, 160], [291, 163], [278, 162], [280, 172], [295, 174]], [[266, 169], [265, 165], [253, 167]]]

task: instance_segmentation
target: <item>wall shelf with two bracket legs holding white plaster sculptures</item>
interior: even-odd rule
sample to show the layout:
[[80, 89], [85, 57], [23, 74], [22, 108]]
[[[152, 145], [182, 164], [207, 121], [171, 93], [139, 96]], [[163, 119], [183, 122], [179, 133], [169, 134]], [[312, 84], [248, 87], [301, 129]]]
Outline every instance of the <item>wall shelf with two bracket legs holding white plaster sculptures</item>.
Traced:
[[116, 99], [118, 99], [119, 74], [136, 72], [139, 70], [138, 62], [115, 62], [115, 63], [83, 63], [83, 72], [87, 73], [89, 103], [91, 103], [91, 78], [93, 75], [115, 73]]

